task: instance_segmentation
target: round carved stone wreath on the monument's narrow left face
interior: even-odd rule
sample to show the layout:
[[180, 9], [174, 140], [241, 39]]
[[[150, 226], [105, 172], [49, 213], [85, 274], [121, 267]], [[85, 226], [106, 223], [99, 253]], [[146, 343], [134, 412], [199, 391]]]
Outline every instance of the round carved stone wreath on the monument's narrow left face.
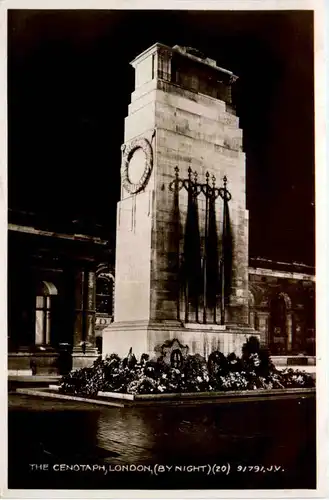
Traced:
[[[137, 149], [142, 149], [145, 154], [145, 167], [140, 180], [134, 184], [129, 179], [129, 162]], [[141, 191], [147, 184], [153, 167], [153, 151], [149, 141], [145, 138], [132, 140], [123, 150], [121, 178], [122, 185], [130, 194], [136, 194]]]

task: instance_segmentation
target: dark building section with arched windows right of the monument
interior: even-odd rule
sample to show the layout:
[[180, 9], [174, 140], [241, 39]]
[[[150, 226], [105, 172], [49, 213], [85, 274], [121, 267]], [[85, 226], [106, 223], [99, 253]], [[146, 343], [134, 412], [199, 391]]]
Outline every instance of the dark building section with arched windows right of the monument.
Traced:
[[314, 269], [250, 259], [249, 322], [272, 355], [315, 356]]

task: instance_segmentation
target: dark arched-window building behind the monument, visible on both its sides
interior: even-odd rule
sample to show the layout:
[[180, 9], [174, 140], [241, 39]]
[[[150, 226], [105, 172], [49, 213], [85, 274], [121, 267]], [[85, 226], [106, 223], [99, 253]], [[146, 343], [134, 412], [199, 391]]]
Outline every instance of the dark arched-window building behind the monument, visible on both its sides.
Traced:
[[[8, 240], [9, 373], [58, 374], [91, 364], [114, 317], [107, 242], [19, 224], [9, 224]], [[313, 363], [314, 269], [251, 257], [249, 324], [273, 357]]]

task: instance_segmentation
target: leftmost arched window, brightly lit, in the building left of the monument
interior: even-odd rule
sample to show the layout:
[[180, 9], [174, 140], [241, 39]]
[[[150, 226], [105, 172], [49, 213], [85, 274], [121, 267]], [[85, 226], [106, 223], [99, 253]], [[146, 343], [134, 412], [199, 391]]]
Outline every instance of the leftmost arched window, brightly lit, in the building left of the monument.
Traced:
[[57, 295], [57, 288], [49, 281], [42, 281], [37, 287], [35, 304], [35, 344], [51, 343], [51, 297]]

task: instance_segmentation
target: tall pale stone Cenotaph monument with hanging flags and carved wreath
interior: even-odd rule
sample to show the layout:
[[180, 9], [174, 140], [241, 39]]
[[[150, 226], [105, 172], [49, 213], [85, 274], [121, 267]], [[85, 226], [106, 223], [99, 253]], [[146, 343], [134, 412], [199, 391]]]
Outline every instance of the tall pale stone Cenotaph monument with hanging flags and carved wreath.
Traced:
[[240, 352], [254, 331], [236, 77], [194, 49], [159, 43], [131, 64], [103, 355], [152, 355], [169, 339], [203, 356]]

